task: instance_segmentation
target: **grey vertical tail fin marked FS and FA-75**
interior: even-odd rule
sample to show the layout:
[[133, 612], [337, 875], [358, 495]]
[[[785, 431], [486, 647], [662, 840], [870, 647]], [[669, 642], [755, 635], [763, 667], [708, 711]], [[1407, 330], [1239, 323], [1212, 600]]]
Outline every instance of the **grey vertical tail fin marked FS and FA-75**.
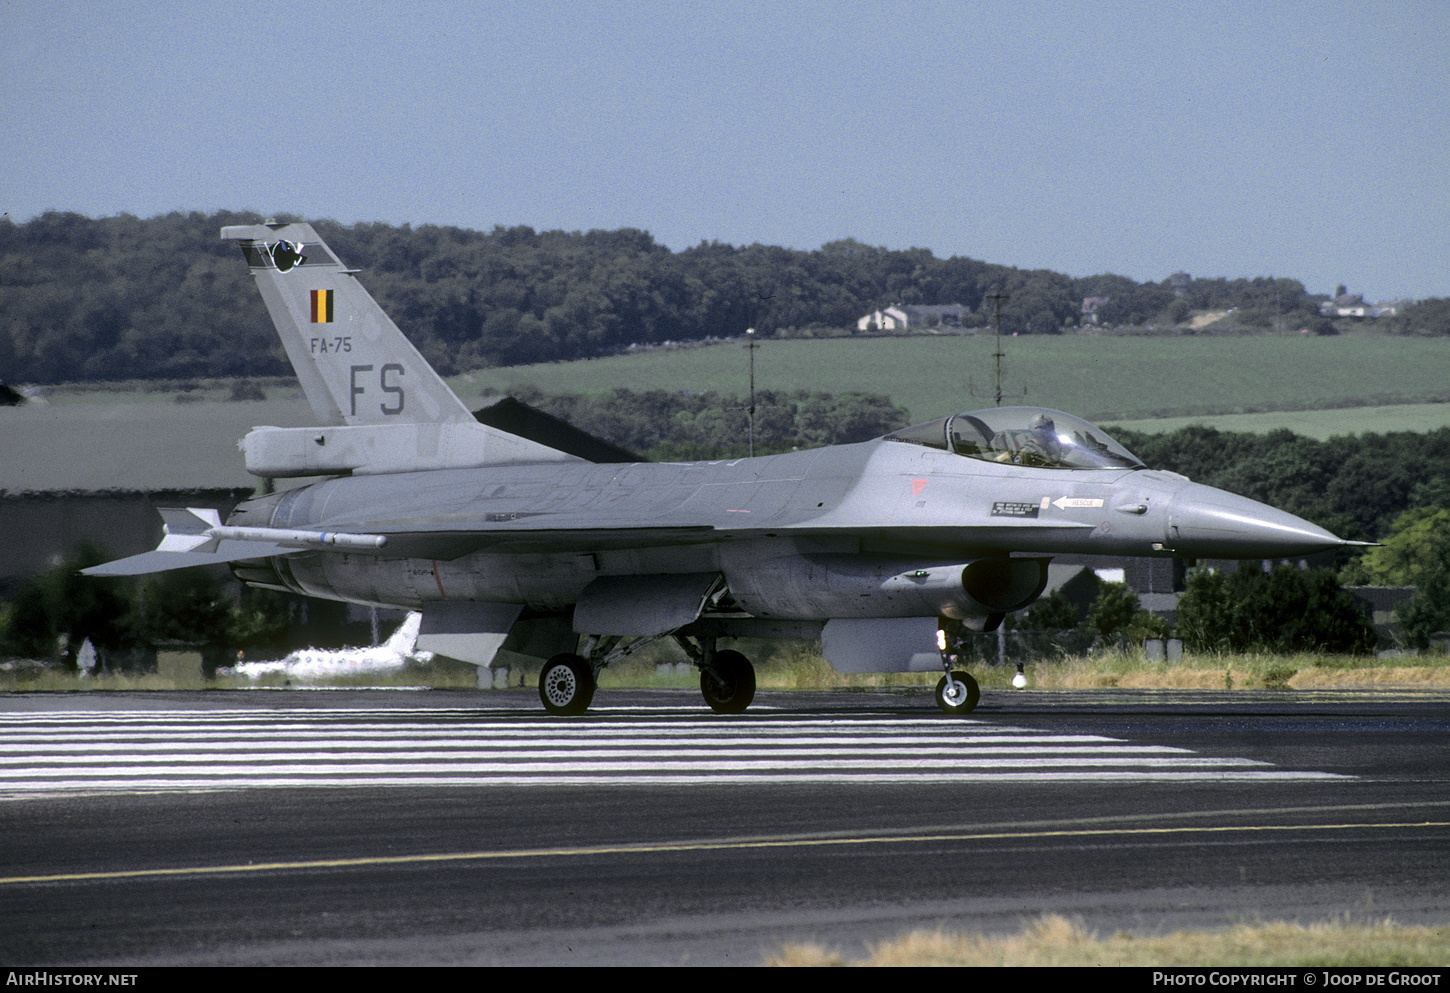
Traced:
[[323, 425], [473, 420], [312, 225], [233, 225], [303, 393]]

